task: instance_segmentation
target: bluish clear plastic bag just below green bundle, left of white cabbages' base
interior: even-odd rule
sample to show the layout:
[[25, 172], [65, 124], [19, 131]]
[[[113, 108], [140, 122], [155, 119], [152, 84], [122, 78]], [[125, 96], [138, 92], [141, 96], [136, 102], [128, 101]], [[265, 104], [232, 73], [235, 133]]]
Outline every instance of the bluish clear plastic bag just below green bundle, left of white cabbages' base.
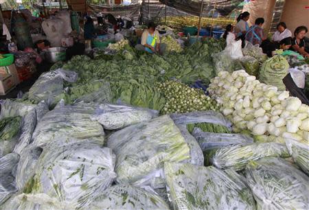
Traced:
[[214, 148], [223, 148], [229, 145], [245, 145], [253, 143], [253, 139], [236, 133], [203, 132], [201, 128], [194, 128], [192, 135], [203, 151]]

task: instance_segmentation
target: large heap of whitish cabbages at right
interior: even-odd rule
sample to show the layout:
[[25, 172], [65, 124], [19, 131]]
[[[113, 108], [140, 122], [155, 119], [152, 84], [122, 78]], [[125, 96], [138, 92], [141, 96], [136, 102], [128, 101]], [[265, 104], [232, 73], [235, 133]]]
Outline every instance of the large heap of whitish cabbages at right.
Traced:
[[222, 104], [220, 111], [231, 119], [236, 132], [249, 130], [263, 141], [309, 139], [309, 106], [244, 70], [220, 72], [208, 91]]

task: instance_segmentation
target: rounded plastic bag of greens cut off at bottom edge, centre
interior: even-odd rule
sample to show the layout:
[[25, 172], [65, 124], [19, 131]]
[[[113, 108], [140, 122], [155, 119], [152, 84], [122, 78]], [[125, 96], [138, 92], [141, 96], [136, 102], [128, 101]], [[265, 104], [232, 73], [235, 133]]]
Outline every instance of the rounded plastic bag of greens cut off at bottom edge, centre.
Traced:
[[84, 209], [170, 209], [162, 198], [139, 187], [115, 185], [109, 187]]

